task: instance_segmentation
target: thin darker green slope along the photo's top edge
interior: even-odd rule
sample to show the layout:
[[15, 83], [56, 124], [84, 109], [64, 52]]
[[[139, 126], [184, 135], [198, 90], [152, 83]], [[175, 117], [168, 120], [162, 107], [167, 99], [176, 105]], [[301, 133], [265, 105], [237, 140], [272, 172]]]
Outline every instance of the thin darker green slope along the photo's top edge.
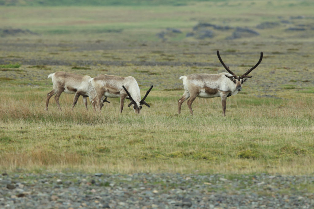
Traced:
[[229, 0], [0, 0], [4, 6], [182, 6], [191, 2], [217, 2]]

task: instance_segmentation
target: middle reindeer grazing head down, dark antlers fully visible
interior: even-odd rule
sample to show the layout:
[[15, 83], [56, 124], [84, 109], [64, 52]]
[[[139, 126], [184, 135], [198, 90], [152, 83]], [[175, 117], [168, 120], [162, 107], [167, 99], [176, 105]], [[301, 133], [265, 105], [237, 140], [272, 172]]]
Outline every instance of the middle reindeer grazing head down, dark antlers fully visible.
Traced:
[[147, 107], [150, 107], [144, 100], [146, 99], [149, 91], [153, 88], [153, 86], [150, 87], [150, 89], [146, 92], [144, 98], [141, 100], [141, 92], [139, 90], [138, 83], [132, 76], [128, 76], [125, 78], [120, 76], [100, 74], [95, 78], [89, 79], [89, 82], [91, 82], [96, 91], [96, 96], [91, 101], [95, 111], [95, 107], [99, 111], [101, 110], [102, 96], [111, 98], [120, 97], [120, 113], [123, 110], [123, 103], [125, 98], [131, 100], [131, 103], [128, 105], [128, 107], [133, 105], [135, 113], [139, 114], [141, 112], [143, 104]]

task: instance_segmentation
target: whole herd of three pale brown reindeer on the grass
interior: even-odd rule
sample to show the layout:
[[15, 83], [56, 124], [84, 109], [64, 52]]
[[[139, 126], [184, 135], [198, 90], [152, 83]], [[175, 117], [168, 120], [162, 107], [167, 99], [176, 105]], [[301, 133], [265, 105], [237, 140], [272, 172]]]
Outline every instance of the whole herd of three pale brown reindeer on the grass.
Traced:
[[[219, 50], [217, 50], [217, 56], [221, 64], [229, 73], [204, 73], [181, 76], [180, 79], [183, 81], [184, 93], [178, 101], [178, 114], [181, 112], [182, 103], [188, 98], [190, 99], [187, 101], [187, 106], [189, 107], [190, 113], [193, 114], [192, 102], [196, 97], [221, 97], [222, 114], [225, 116], [227, 97], [236, 95], [239, 91], [241, 91], [242, 85], [247, 78], [252, 78], [252, 76], [248, 76], [248, 74], [261, 63], [263, 59], [263, 52], [261, 52], [256, 65], [247, 70], [242, 76], [237, 76], [227, 65], [225, 65], [220, 57]], [[50, 74], [48, 78], [52, 79], [53, 89], [47, 94], [45, 107], [46, 111], [48, 111], [49, 99], [55, 94], [57, 107], [61, 110], [59, 97], [63, 91], [68, 94], [75, 94], [71, 110], [73, 110], [79, 96], [83, 96], [86, 109], [86, 97], [89, 97], [89, 101], [91, 102], [94, 111], [96, 111], [96, 109], [101, 111], [101, 108], [104, 106], [104, 102], [110, 103], [107, 101], [108, 97], [120, 97], [120, 113], [123, 110], [124, 100], [126, 98], [131, 101], [128, 104], [128, 107], [133, 105], [135, 113], [139, 114], [141, 112], [142, 105], [150, 107], [149, 104], [145, 102], [145, 99], [152, 90], [153, 86], [146, 91], [145, 96], [141, 99], [138, 83], [132, 76], [121, 77], [100, 74], [91, 78], [90, 76], [80, 76], [61, 71]]]

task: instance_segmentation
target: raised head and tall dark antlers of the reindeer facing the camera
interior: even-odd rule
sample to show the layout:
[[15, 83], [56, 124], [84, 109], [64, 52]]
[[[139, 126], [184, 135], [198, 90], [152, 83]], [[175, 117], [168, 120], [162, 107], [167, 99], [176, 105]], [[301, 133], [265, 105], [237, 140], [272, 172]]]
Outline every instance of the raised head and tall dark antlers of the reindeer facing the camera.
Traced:
[[[248, 74], [254, 70], [262, 61], [263, 59], [263, 52], [261, 52], [261, 56], [258, 60], [258, 62], [256, 63], [256, 65], [254, 65], [251, 69], [247, 70], [246, 73], [244, 73], [242, 76], [237, 76], [234, 72], [230, 71], [229, 67], [227, 65], [225, 65], [225, 63], [222, 61], [220, 55], [219, 55], [219, 50], [217, 50], [217, 56], [219, 61], [221, 62], [221, 64], [225, 67], [225, 69], [232, 75], [232, 76], [227, 76], [227, 78], [230, 78], [231, 81], [233, 81], [236, 85], [236, 90], [237, 91], [241, 91], [242, 89], [242, 84], [247, 80], [247, 78], [252, 78], [252, 76], [248, 76]], [[243, 79], [244, 78], [244, 79]]]

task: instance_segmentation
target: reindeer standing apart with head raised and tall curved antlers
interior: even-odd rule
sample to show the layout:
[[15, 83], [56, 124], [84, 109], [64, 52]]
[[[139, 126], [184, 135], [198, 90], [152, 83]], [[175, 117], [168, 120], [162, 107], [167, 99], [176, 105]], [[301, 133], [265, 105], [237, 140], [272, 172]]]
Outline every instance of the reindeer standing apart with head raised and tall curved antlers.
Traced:
[[[242, 76], [236, 76], [235, 73], [230, 71], [229, 67], [225, 65], [222, 61], [219, 50], [217, 50], [218, 59], [225, 69], [230, 73], [219, 73], [219, 74], [191, 74], [188, 76], [181, 76], [180, 79], [183, 80], [184, 93], [183, 96], [178, 101], [178, 114], [181, 112], [182, 103], [187, 100], [187, 106], [192, 111], [192, 102], [196, 97], [201, 98], [213, 98], [221, 97], [222, 105], [222, 115], [226, 116], [226, 100], [227, 97], [231, 95], [236, 95], [242, 89], [242, 84], [247, 80], [247, 78], [252, 78], [252, 76], [247, 76], [252, 70], [254, 70], [257, 65], [259, 65], [263, 59], [263, 52], [256, 65], [251, 69], [246, 71]], [[243, 79], [245, 78], [245, 79]]]

